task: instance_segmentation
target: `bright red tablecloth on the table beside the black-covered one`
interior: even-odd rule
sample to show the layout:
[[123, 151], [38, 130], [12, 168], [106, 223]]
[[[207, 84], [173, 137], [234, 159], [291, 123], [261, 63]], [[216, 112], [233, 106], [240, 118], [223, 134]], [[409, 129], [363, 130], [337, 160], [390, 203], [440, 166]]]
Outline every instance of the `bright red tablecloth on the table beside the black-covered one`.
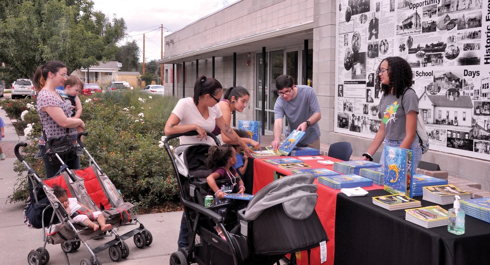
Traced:
[[[323, 160], [331, 160], [334, 162], [342, 161], [333, 157], [322, 156]], [[297, 157], [293, 157], [297, 158]], [[260, 189], [264, 188], [267, 184], [281, 175], [291, 175], [291, 170], [279, 168], [277, 165], [264, 162], [264, 159], [254, 159], [253, 161], [253, 194], [257, 193]], [[333, 170], [333, 165], [322, 165], [317, 162], [318, 160], [305, 160], [304, 163], [311, 166], [312, 169], [330, 169]], [[321, 224], [327, 233], [329, 241], [327, 242], [327, 262], [324, 265], [333, 265], [334, 263], [334, 251], [335, 251], [335, 207], [337, 204], [337, 193], [340, 190], [334, 190], [323, 184], [318, 184], [315, 180], [318, 190], [318, 200], [315, 210], [320, 218]], [[363, 187], [363, 189], [378, 190], [383, 189], [383, 186], [373, 185], [371, 187]], [[298, 265], [308, 264], [308, 254], [306, 251], [302, 251], [300, 254], [296, 254]], [[311, 250], [310, 255], [311, 265], [320, 264], [320, 248], [316, 247]]]

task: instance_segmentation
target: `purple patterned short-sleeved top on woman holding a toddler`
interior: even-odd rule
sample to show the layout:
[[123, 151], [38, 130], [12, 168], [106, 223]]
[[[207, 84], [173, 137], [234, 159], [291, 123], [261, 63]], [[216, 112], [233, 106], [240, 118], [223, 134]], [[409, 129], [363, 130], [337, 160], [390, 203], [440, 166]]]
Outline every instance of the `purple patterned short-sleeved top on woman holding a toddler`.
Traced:
[[[47, 112], [42, 111], [44, 107], [49, 106], [60, 107], [65, 113], [66, 117], [70, 118], [72, 117], [72, 104], [62, 101], [46, 89], [41, 89], [37, 95], [37, 113], [39, 114], [41, 124], [43, 124], [43, 129], [46, 132], [46, 136], [48, 138], [65, 136], [66, 128], [58, 125], [58, 123], [56, 123], [56, 121], [54, 121]], [[44, 137], [41, 136], [41, 139], [39, 140], [41, 145], [45, 145], [43, 138]], [[76, 141], [76, 128], [70, 129], [70, 138], [72, 139], [73, 143]]]

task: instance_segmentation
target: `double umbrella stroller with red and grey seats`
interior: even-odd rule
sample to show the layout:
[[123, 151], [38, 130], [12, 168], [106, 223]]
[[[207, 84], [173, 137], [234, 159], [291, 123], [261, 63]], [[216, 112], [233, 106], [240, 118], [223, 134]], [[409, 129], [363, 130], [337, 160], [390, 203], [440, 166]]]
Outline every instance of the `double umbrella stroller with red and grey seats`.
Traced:
[[[124, 242], [126, 239], [133, 237], [138, 248], [148, 246], [153, 241], [151, 233], [131, 212], [130, 209], [133, 205], [123, 201], [114, 184], [99, 168], [80, 141], [81, 135], [87, 135], [87, 133], [82, 132], [78, 135], [78, 143], [89, 156], [92, 165], [85, 169], [71, 170], [68, 169], [60, 156], [55, 154], [62, 167], [60, 174], [49, 179], [39, 178], [36, 172], [25, 162], [19, 148], [27, 146], [26, 143], [21, 142], [15, 146], [15, 155], [28, 169], [29, 199], [24, 211], [25, 223], [31, 228], [43, 230], [44, 244], [42, 247], [29, 252], [27, 256], [29, 265], [48, 264], [47, 244], [60, 244], [65, 253], [72, 253], [83, 244], [87, 247], [91, 257], [83, 259], [80, 264], [99, 265], [101, 262], [96, 254], [107, 248], [112, 261], [117, 262], [127, 258], [129, 247]], [[83, 222], [74, 222], [70, 213], [66, 212], [64, 206], [54, 195], [53, 187], [55, 185], [64, 188], [68, 197], [76, 198], [79, 203], [84, 204], [90, 210], [101, 211], [106, 218], [106, 223], [111, 224], [112, 228], [104, 232], [101, 229], [94, 231]], [[137, 227], [122, 235], [118, 234], [121, 227], [130, 225], [137, 225]], [[87, 243], [88, 240], [111, 237], [114, 239], [105, 241], [95, 248], [91, 248]]]

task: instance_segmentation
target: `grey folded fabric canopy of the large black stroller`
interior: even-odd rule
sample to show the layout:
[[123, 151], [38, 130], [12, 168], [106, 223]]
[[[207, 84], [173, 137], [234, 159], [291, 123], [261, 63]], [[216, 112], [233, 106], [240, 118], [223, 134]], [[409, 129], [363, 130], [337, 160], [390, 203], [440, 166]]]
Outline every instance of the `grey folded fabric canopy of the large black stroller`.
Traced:
[[250, 200], [245, 218], [254, 220], [262, 211], [282, 204], [284, 212], [293, 219], [310, 217], [317, 205], [317, 185], [312, 173], [285, 176], [274, 180]]

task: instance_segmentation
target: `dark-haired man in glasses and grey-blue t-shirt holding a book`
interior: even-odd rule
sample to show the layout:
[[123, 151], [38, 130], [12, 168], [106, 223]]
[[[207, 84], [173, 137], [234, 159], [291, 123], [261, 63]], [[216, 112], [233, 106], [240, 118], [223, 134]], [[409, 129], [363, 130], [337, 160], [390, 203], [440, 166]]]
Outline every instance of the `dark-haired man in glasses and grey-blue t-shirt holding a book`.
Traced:
[[296, 86], [293, 77], [285, 74], [277, 77], [275, 85], [279, 97], [274, 105], [274, 141], [270, 145], [274, 150], [279, 149], [282, 123], [286, 117], [286, 135], [294, 129], [306, 132], [296, 146], [320, 149], [320, 127], [317, 122], [321, 119], [321, 112], [313, 88], [305, 85]]

